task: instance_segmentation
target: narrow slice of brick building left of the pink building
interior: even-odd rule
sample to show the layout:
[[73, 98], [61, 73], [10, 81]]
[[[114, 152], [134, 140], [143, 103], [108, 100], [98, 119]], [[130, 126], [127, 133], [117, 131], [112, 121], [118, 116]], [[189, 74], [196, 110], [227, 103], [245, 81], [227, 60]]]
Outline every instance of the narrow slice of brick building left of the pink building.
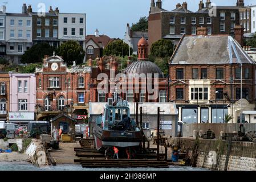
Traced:
[[10, 109], [10, 77], [9, 72], [0, 72], [0, 120], [6, 121]]

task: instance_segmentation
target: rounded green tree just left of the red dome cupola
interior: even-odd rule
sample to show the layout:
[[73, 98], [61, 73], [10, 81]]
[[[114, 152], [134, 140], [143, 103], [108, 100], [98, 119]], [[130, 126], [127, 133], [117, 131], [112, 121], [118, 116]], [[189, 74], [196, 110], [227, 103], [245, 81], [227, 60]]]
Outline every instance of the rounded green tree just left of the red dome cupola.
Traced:
[[[131, 48], [131, 52], [133, 52], [132, 48]], [[104, 48], [103, 55], [128, 56], [129, 46], [127, 43], [123, 42], [123, 40], [115, 40]]]

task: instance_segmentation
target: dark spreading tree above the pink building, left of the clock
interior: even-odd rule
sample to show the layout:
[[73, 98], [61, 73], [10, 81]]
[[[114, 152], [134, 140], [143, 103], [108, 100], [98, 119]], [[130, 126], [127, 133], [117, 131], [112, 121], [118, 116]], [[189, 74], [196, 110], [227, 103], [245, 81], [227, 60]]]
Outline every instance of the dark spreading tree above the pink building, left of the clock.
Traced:
[[41, 63], [44, 55], [50, 56], [54, 51], [48, 43], [35, 44], [22, 55], [21, 63]]

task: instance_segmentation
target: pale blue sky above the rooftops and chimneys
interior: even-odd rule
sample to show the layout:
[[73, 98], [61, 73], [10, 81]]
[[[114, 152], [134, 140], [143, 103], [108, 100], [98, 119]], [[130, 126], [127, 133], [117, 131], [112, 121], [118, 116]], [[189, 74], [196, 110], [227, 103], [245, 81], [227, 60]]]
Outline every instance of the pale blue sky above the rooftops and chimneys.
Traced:
[[[157, 1], [157, 0], [155, 0]], [[200, 0], [163, 0], [162, 8], [173, 10], [177, 3], [188, 2], [190, 11], [198, 10]], [[94, 34], [96, 28], [100, 34], [111, 38], [124, 38], [127, 23], [136, 23], [141, 16], [148, 16], [151, 0], [0, 0], [7, 3], [8, 13], [22, 13], [23, 3], [38, 10], [39, 3], [45, 3], [46, 11], [59, 7], [60, 13], [86, 13], [87, 35]], [[206, 2], [206, 0], [204, 0]], [[237, 0], [212, 0], [217, 6], [235, 5]], [[245, 0], [245, 5], [256, 5], [255, 0]]]

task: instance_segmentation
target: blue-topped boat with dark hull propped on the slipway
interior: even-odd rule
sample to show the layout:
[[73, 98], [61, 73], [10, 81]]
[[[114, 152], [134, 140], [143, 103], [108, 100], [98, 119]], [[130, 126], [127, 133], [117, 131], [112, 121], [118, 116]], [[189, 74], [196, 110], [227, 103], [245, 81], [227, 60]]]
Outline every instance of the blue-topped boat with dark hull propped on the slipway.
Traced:
[[114, 94], [108, 98], [101, 123], [95, 127], [94, 138], [97, 150], [107, 147], [137, 147], [141, 145], [142, 134], [134, 119], [130, 117], [127, 101]]

